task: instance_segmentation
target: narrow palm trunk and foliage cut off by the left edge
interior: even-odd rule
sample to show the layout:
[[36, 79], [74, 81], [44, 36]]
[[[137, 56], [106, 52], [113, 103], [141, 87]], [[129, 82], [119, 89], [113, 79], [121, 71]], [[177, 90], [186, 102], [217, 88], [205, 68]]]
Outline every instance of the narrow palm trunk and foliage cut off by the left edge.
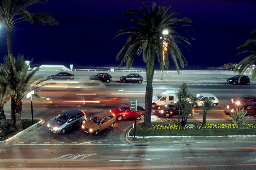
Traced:
[[[0, 75], [5, 76], [5, 73], [2, 69], [0, 68]], [[1, 129], [7, 130], [8, 129], [8, 123], [6, 121], [6, 116], [4, 114], [4, 106], [9, 100], [9, 96], [7, 94], [7, 85], [4, 83], [2, 79], [0, 79], [0, 126]]]

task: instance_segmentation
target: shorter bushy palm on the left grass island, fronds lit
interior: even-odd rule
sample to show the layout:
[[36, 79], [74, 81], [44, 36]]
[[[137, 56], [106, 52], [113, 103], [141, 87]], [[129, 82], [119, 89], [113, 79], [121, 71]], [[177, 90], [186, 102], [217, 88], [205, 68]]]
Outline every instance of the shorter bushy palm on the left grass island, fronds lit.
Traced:
[[[11, 98], [15, 102], [15, 127], [18, 130], [23, 130], [23, 125], [21, 122], [22, 114], [22, 100], [30, 91], [33, 91], [44, 85], [55, 84], [53, 82], [44, 83], [47, 79], [43, 79], [43, 75], [35, 75], [35, 73], [40, 69], [40, 67], [32, 70], [28, 73], [29, 65], [26, 65], [24, 61], [24, 55], [19, 54], [16, 58], [11, 58], [9, 56], [4, 57], [5, 64], [1, 65], [6, 77], [0, 77], [8, 87], [10, 87], [9, 93]], [[39, 94], [33, 94], [34, 97], [42, 100]]]

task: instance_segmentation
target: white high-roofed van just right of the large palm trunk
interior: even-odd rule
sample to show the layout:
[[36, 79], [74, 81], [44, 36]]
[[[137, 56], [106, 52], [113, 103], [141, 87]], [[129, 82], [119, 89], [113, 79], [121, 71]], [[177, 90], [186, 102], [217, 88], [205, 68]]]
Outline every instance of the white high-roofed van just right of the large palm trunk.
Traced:
[[152, 108], [155, 108], [156, 106], [168, 105], [174, 101], [178, 101], [174, 94], [174, 90], [166, 90], [165, 92], [153, 96]]

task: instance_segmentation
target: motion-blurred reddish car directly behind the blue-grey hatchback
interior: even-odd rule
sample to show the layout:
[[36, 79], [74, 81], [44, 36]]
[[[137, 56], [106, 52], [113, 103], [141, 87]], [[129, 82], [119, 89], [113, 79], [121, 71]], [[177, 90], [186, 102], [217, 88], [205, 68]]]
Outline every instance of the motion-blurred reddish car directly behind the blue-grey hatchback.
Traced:
[[58, 106], [76, 106], [80, 108], [85, 104], [85, 99], [82, 95], [76, 95], [76, 94], [65, 94], [61, 97], [59, 97], [57, 100], [51, 100], [51, 104], [55, 107]]

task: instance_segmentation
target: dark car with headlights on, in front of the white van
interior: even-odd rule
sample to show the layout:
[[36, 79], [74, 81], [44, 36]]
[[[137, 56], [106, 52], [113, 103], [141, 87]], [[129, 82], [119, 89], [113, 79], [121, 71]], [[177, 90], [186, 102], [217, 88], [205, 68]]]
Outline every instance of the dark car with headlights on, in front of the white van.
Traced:
[[[158, 112], [161, 116], [164, 116], [166, 118], [170, 116], [176, 116], [179, 115], [179, 102], [173, 102], [171, 104], [165, 105], [165, 106], [159, 106], [158, 107]], [[188, 103], [190, 104], [190, 103]], [[181, 105], [181, 110], [180, 110], [180, 115], [182, 115], [182, 108], [184, 106]], [[194, 113], [194, 108], [192, 109], [191, 113], [188, 114], [188, 117], [191, 117]]]

